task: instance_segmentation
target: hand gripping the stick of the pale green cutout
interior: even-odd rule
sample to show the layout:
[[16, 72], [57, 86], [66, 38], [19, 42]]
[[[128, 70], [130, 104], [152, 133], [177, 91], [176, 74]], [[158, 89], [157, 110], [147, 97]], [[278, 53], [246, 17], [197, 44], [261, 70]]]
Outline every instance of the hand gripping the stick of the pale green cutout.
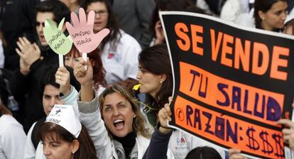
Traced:
[[59, 67], [55, 73], [55, 82], [60, 85], [60, 92], [66, 95], [70, 92], [70, 72], [65, 67]]

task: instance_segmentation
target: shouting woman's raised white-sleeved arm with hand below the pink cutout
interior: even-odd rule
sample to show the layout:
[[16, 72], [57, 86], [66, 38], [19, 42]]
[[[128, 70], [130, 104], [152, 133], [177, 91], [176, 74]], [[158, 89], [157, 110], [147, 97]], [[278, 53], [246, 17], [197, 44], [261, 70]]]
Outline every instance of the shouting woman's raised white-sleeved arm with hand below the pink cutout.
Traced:
[[[80, 121], [87, 128], [89, 136], [94, 143], [98, 158], [117, 158], [114, 146], [111, 146], [111, 140], [99, 111], [98, 97], [93, 89], [92, 65], [87, 60], [80, 60], [80, 65], [75, 68], [76, 79], [81, 84], [80, 101], [77, 102], [80, 111]], [[87, 70], [84, 65], [87, 64]]]

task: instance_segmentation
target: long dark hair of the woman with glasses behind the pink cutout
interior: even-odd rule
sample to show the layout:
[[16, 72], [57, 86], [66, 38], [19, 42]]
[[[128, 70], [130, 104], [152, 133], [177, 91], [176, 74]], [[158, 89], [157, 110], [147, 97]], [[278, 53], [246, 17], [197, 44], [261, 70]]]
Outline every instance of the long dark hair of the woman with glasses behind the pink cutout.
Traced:
[[107, 21], [107, 27], [110, 30], [109, 35], [107, 35], [106, 38], [104, 38], [102, 40], [101, 43], [101, 50], [103, 50], [105, 44], [107, 42], [111, 42], [110, 43], [110, 47], [113, 50], [116, 50], [117, 44], [119, 43], [119, 40], [121, 38], [121, 33], [119, 33], [119, 23], [117, 22], [115, 16], [114, 16], [114, 12], [112, 11], [112, 6], [111, 6], [111, 2], [109, 0], [85, 0], [81, 7], [84, 8], [85, 10], [87, 10], [87, 7], [95, 2], [101, 2], [104, 3], [107, 6], [107, 11], [108, 11], [108, 21]]

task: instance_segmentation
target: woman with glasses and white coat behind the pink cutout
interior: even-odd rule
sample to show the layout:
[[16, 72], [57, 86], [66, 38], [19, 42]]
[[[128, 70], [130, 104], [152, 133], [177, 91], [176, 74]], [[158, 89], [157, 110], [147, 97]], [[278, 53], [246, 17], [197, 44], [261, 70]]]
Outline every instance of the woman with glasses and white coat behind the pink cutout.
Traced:
[[88, 0], [82, 4], [86, 13], [95, 12], [94, 33], [109, 28], [109, 35], [99, 45], [100, 56], [105, 68], [107, 84], [123, 82], [136, 83], [138, 53], [141, 46], [138, 42], [119, 28], [108, 0]]

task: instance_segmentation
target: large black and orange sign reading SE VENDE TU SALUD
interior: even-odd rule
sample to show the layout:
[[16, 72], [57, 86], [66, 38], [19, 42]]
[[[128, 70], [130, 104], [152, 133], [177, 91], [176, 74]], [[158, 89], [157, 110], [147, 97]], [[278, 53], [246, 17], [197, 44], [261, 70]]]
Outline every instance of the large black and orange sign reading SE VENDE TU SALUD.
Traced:
[[197, 13], [160, 13], [173, 66], [170, 126], [257, 158], [284, 158], [294, 40]]

